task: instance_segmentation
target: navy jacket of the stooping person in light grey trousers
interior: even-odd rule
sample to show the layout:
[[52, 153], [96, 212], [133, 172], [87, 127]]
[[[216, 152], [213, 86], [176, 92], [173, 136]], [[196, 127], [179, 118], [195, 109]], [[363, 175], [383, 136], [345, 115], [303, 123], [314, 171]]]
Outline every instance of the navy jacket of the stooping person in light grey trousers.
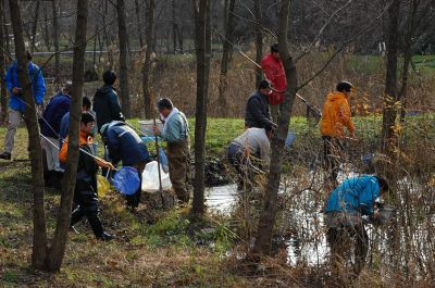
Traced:
[[71, 97], [62, 92], [51, 98], [42, 114], [42, 135], [59, 138], [62, 117], [70, 112]]

